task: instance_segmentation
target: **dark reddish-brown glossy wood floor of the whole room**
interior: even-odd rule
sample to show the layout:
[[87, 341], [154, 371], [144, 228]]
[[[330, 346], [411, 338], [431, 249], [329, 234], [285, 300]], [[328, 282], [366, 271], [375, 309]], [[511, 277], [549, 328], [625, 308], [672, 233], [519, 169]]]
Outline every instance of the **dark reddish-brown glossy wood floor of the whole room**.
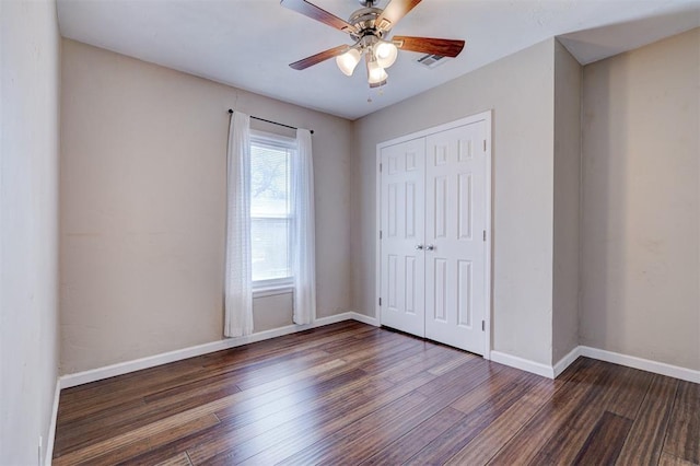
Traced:
[[700, 463], [700, 385], [348, 322], [61, 392], [55, 465]]

